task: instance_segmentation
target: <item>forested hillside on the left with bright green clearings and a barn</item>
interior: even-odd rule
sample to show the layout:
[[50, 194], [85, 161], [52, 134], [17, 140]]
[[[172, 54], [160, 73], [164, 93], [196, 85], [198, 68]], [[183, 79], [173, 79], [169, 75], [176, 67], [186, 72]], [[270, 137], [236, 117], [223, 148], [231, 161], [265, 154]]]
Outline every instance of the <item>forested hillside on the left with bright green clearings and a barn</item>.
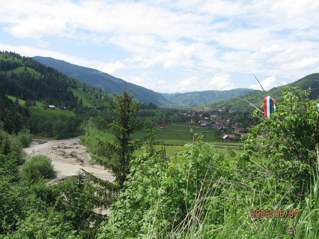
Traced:
[[[110, 120], [104, 110], [107, 99], [112, 100], [112, 96], [101, 89], [30, 57], [0, 51], [0, 123], [9, 133], [27, 127], [32, 134], [48, 137], [79, 135], [79, 125], [90, 116], [100, 114]], [[45, 110], [48, 105], [56, 110]]]

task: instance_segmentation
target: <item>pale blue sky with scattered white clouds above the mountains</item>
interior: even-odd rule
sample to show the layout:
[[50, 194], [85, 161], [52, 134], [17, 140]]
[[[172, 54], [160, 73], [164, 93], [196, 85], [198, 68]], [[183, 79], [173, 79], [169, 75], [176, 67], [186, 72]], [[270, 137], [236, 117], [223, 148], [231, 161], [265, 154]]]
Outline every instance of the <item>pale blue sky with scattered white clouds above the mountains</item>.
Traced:
[[265, 90], [319, 72], [319, 0], [0, 1], [0, 50], [156, 92]]

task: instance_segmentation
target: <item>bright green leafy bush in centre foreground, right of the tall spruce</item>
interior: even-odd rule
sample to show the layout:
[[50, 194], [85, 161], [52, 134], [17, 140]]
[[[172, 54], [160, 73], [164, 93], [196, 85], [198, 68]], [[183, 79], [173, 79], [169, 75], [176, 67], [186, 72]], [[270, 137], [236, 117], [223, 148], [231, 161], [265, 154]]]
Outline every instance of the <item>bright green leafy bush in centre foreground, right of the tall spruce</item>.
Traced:
[[[151, 155], [148, 148], [132, 160], [126, 189], [98, 238], [167, 238], [173, 228], [183, 231], [190, 221], [203, 221], [212, 204], [208, 196], [217, 190], [217, 184], [211, 183], [211, 178], [217, 178], [208, 169], [228, 164], [220, 154], [210, 152], [209, 145], [202, 146], [201, 139], [192, 150], [181, 152], [182, 163], [158, 152]], [[219, 202], [215, 208], [223, 207], [219, 198], [215, 200]]]

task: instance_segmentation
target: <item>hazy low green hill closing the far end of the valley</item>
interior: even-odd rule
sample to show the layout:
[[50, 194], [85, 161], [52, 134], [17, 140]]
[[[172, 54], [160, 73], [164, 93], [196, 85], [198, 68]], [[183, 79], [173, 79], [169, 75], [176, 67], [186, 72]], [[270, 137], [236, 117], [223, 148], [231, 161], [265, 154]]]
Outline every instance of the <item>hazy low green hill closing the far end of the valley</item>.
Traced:
[[229, 96], [244, 95], [253, 89], [238, 88], [228, 91], [193, 91], [187, 93], [161, 93], [174, 105], [195, 105], [213, 103], [227, 99]]

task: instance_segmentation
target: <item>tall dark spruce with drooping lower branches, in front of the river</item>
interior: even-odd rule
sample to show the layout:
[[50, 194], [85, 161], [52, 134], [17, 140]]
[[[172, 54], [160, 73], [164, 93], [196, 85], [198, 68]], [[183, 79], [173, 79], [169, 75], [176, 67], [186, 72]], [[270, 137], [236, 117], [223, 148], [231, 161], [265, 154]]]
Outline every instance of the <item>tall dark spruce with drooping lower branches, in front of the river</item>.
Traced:
[[94, 156], [92, 158], [102, 164], [105, 169], [110, 170], [115, 177], [115, 181], [110, 183], [88, 172], [85, 172], [85, 174], [94, 184], [100, 185], [100, 187], [95, 187], [96, 198], [93, 200], [95, 200], [96, 206], [101, 208], [108, 208], [114, 202], [115, 195], [123, 188], [123, 183], [130, 173], [129, 164], [134, 151], [142, 147], [146, 140], [154, 134], [154, 131], [148, 131], [149, 133], [145, 137], [131, 138], [132, 134], [142, 130], [152, 122], [152, 118], [136, 120], [141, 102], [137, 102], [134, 99], [135, 96], [130, 94], [130, 90], [126, 90], [125, 84], [121, 95], [114, 94], [115, 102], [108, 101], [108, 105], [106, 105], [111, 112], [113, 121], [109, 123], [99, 116], [103, 125], [114, 134], [112, 141], [103, 142], [97, 139], [101, 147], [109, 149], [112, 160], [111, 162], [105, 162]]

